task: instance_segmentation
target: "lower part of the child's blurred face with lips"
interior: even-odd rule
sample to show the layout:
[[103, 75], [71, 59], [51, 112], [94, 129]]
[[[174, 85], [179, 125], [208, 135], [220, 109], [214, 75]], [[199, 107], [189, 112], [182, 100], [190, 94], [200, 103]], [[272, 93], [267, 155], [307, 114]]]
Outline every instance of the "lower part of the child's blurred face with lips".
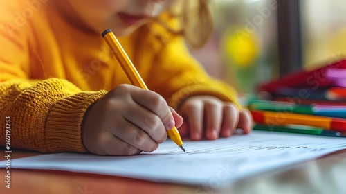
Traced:
[[[60, 1], [60, 0], [59, 0]], [[127, 35], [152, 17], [167, 10], [176, 0], [67, 0], [72, 15], [97, 33], [111, 29]], [[64, 5], [66, 6], [66, 4]]]

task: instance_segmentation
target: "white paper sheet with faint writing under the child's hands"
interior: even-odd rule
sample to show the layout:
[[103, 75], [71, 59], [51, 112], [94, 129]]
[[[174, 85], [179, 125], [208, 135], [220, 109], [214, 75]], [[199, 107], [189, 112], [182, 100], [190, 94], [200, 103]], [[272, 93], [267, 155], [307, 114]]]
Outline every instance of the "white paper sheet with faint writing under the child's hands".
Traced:
[[346, 139], [253, 132], [216, 141], [184, 141], [184, 146], [186, 153], [168, 139], [155, 152], [131, 157], [40, 155], [13, 159], [11, 168], [67, 170], [212, 187], [346, 149]]

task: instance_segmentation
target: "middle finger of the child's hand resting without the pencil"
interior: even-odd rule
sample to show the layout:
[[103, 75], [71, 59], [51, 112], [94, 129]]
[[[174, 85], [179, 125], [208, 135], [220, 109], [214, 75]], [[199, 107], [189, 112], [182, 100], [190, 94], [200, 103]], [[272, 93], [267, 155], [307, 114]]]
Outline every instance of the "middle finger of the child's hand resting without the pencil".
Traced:
[[204, 104], [204, 110], [206, 112], [206, 138], [217, 139], [222, 122], [222, 103], [216, 101], [206, 102]]

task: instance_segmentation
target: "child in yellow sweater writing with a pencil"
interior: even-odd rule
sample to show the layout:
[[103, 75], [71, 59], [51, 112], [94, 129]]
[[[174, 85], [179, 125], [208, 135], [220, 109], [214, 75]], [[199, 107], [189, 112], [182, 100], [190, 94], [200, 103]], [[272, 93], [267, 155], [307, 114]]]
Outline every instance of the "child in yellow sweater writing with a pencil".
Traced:
[[[251, 132], [235, 91], [185, 48], [183, 37], [210, 35], [207, 0], [6, 0], [0, 11], [0, 145], [8, 134], [12, 148], [135, 155], [174, 125], [192, 140]], [[129, 85], [108, 28], [151, 91]]]

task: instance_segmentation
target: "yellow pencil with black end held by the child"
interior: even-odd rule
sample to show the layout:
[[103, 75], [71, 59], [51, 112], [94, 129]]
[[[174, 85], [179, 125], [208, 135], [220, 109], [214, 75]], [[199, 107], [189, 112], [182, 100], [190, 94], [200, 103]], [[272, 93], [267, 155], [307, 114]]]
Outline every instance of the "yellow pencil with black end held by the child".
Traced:
[[[118, 62], [120, 63], [122, 69], [126, 73], [126, 76], [131, 81], [131, 84], [135, 85], [136, 87], [148, 89], [147, 85], [145, 85], [145, 82], [140, 77], [136, 67], [134, 67], [134, 64], [132, 64], [131, 60], [118, 42], [118, 39], [116, 39], [114, 33], [108, 29], [102, 33], [102, 37], [106, 40], [109, 48], [111, 48], [111, 52], [116, 57], [116, 60], [118, 60]], [[178, 145], [181, 150], [185, 152], [183, 141], [181, 140], [181, 136], [176, 127], [173, 127], [172, 130], [167, 130], [167, 134], [168, 136], [170, 136], [170, 139], [172, 139], [172, 141], [174, 141], [174, 143], [176, 143], [176, 145]]]

